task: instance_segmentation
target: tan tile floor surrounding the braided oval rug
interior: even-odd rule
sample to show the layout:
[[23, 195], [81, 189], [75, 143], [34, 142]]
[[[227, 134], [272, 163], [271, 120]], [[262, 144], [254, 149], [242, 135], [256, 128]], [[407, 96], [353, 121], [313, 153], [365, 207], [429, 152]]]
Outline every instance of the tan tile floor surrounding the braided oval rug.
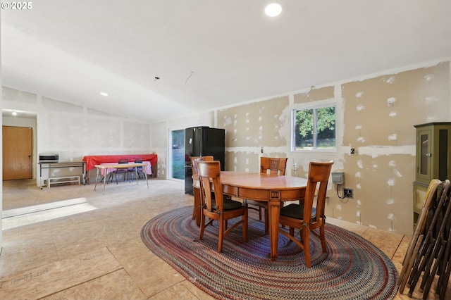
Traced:
[[[211, 299], [140, 237], [147, 220], [192, 201], [183, 182], [156, 178], [149, 188], [145, 182], [109, 184], [105, 194], [92, 184], [41, 190], [34, 180], [5, 181], [0, 299]], [[409, 236], [328, 222], [373, 242], [401, 270]], [[430, 299], [433, 292], [434, 285]]]

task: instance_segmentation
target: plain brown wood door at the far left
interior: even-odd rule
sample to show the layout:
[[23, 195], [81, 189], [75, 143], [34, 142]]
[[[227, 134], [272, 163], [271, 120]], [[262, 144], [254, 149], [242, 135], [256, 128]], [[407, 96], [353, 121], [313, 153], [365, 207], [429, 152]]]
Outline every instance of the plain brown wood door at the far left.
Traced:
[[32, 179], [31, 127], [3, 126], [3, 180]]

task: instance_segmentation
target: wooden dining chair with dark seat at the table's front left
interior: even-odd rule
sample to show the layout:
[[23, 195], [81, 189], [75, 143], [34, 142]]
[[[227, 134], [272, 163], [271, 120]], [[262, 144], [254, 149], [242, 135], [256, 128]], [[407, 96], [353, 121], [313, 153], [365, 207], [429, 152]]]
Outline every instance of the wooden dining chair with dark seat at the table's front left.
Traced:
[[[199, 239], [203, 239], [205, 227], [214, 220], [219, 222], [218, 252], [223, 249], [223, 239], [238, 225], [242, 225], [242, 239], [247, 242], [247, 206], [239, 201], [223, 198], [221, 163], [219, 161], [196, 161], [200, 182], [201, 223]], [[213, 198], [212, 192], [215, 197]], [[241, 220], [227, 228], [227, 220]], [[206, 218], [209, 218], [206, 222]]]

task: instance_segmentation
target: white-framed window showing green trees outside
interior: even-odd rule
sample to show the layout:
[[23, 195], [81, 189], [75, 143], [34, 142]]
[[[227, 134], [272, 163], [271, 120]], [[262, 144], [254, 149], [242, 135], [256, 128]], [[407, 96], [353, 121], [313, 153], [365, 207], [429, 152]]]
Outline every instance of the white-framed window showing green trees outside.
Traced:
[[292, 151], [335, 151], [335, 111], [335, 104], [293, 109]]

